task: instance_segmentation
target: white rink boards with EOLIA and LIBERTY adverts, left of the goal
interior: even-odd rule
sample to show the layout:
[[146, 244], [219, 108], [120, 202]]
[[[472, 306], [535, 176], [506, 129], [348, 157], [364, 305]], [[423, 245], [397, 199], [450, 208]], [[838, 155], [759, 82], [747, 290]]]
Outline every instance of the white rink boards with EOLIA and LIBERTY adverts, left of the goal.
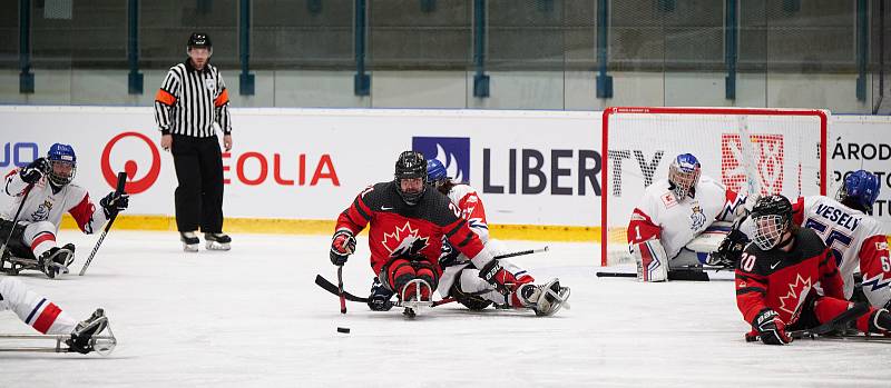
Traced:
[[[392, 179], [399, 152], [423, 142], [421, 137], [433, 138], [425, 142], [432, 149], [443, 143], [443, 153], [469, 163], [464, 175], [487, 198], [493, 223], [595, 226], [600, 217], [595, 112], [233, 109], [232, 115], [234, 149], [224, 155], [226, 217], [334, 219], [365, 186]], [[31, 160], [26, 143], [37, 145], [41, 156], [53, 142], [71, 143], [78, 155], [76, 180], [99, 197], [111, 189], [101, 172], [108, 150], [109, 171], [130, 160], [137, 167], [134, 179], [144, 191], [133, 196], [129, 213], [173, 215], [173, 157], [159, 151], [151, 109], [0, 107], [0, 139], [10, 150], [0, 158], [3, 171], [10, 157]], [[109, 146], [130, 132], [138, 135]], [[458, 146], [450, 148], [450, 141]], [[594, 181], [579, 183], [579, 161]], [[154, 181], [153, 163], [158, 167]], [[531, 172], [523, 173], [523, 166]], [[457, 162], [449, 167], [460, 170]]]

